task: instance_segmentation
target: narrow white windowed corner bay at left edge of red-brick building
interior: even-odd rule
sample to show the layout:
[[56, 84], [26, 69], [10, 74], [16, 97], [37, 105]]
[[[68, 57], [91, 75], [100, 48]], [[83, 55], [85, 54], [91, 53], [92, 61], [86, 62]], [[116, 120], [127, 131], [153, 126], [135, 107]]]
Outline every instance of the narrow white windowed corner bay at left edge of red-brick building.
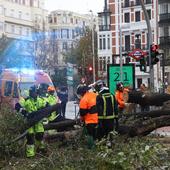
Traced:
[[107, 64], [112, 63], [111, 12], [108, 0], [104, 1], [104, 10], [98, 13], [98, 17], [98, 76], [106, 78]]

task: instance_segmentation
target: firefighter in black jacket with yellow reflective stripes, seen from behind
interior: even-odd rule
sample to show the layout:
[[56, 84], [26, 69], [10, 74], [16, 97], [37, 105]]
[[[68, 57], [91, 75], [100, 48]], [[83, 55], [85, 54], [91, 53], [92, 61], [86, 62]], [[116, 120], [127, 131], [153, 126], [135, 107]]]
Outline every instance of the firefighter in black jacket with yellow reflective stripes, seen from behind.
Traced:
[[115, 96], [110, 93], [102, 80], [98, 80], [95, 89], [98, 92], [96, 106], [98, 111], [99, 126], [98, 139], [107, 137], [109, 132], [118, 129], [118, 106]]

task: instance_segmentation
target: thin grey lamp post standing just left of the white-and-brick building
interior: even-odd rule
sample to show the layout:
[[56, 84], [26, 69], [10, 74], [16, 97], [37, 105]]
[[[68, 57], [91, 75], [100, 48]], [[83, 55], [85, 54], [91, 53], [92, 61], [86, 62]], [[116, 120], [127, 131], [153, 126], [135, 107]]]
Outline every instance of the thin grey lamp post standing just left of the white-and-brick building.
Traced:
[[91, 12], [91, 31], [92, 31], [92, 57], [93, 57], [93, 82], [96, 81], [96, 69], [95, 69], [95, 51], [94, 51], [94, 17], [93, 11]]

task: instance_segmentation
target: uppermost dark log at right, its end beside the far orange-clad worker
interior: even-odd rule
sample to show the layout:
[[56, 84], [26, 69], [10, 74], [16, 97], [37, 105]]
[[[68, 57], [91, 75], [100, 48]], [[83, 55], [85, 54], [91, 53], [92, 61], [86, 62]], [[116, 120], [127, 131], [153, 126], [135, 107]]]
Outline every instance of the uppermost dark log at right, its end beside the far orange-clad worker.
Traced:
[[162, 106], [164, 102], [170, 100], [170, 94], [147, 93], [141, 91], [129, 92], [128, 103], [136, 103], [141, 106]]

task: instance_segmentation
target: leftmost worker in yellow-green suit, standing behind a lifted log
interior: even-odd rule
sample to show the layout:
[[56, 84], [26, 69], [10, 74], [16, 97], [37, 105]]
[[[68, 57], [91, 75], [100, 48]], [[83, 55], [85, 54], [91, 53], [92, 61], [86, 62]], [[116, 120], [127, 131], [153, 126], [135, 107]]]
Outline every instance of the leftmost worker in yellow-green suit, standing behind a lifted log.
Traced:
[[[44, 107], [44, 102], [38, 99], [37, 87], [32, 86], [29, 89], [29, 97], [22, 102], [22, 107], [25, 109], [27, 115], [29, 113], [37, 111]], [[27, 116], [25, 115], [25, 116]], [[37, 150], [44, 152], [45, 151], [45, 143], [44, 143], [44, 126], [42, 121], [36, 123], [34, 126], [28, 129], [27, 131], [27, 143], [26, 143], [26, 156], [34, 157], [35, 156], [35, 144], [37, 146]]]

